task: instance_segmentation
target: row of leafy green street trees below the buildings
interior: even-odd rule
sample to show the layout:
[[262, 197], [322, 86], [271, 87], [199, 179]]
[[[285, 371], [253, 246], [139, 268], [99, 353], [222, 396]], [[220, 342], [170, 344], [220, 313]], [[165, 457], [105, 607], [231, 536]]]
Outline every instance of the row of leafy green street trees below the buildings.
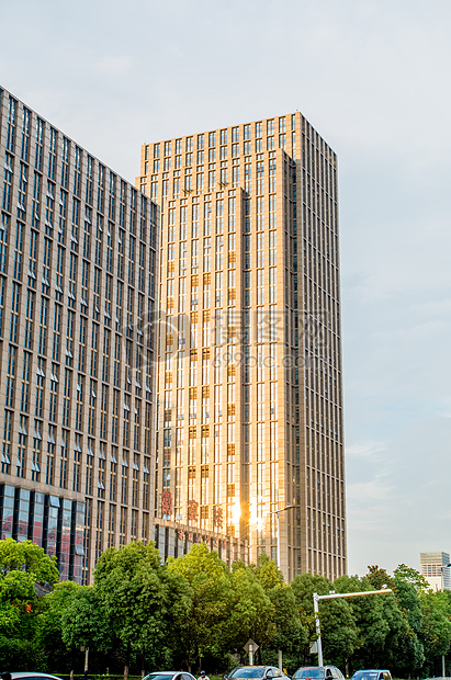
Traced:
[[[52, 591], [38, 597], [35, 583]], [[201, 665], [225, 671], [243, 658], [251, 637], [261, 662], [284, 667], [316, 662], [313, 593], [358, 592], [384, 586], [393, 594], [326, 600], [320, 604], [325, 662], [350, 673], [390, 668], [396, 677], [440, 675], [451, 643], [451, 593], [432, 592], [405, 565], [393, 576], [369, 567], [367, 576], [330, 582], [301, 574], [285, 583], [277, 565], [229, 569], [205, 544], [161, 565], [154, 544], [110, 548], [99, 559], [92, 586], [58, 582], [52, 558], [31, 542], [0, 542], [0, 658], [4, 667], [64, 673], [125, 672]], [[243, 660], [245, 660], [243, 658]], [[25, 668], [26, 667], [26, 668]]]

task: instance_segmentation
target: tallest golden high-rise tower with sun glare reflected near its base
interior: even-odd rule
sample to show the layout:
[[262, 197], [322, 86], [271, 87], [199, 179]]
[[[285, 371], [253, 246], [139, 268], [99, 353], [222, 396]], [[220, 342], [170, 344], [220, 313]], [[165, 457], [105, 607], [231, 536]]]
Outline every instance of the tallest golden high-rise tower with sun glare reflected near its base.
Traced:
[[137, 186], [161, 209], [158, 545], [343, 574], [336, 155], [294, 113], [146, 144]]

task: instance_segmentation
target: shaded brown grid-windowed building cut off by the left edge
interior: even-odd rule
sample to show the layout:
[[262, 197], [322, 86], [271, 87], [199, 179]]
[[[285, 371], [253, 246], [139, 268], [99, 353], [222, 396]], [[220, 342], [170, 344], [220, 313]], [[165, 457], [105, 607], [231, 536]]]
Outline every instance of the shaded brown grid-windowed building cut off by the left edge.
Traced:
[[0, 89], [0, 537], [151, 539], [158, 208]]

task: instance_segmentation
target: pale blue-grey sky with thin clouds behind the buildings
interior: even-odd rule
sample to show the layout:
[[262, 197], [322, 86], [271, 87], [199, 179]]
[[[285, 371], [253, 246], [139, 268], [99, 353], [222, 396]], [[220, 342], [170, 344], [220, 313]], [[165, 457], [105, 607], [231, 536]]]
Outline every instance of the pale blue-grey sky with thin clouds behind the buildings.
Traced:
[[339, 158], [348, 570], [451, 551], [449, 0], [0, 0], [0, 83], [120, 174], [302, 111]]

